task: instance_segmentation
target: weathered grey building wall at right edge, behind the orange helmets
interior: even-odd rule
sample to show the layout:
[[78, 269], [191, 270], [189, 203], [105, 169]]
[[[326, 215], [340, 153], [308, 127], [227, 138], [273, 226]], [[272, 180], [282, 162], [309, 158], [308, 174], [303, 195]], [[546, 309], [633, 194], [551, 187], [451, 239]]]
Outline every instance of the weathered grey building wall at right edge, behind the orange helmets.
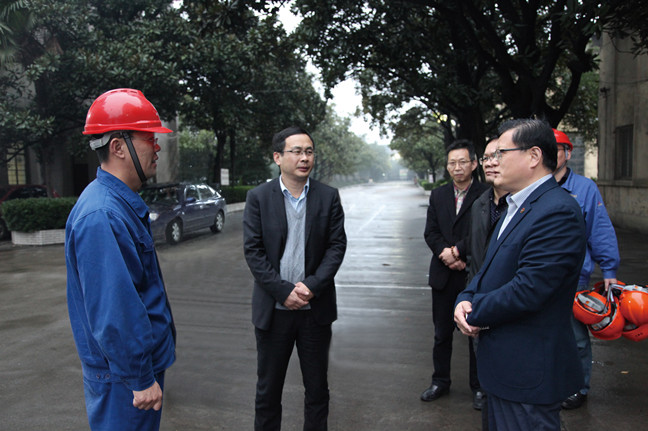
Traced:
[[[648, 56], [635, 57], [631, 48], [629, 39], [603, 36], [598, 186], [616, 226], [648, 232]], [[632, 174], [619, 179], [619, 127], [629, 125], [633, 126]]]

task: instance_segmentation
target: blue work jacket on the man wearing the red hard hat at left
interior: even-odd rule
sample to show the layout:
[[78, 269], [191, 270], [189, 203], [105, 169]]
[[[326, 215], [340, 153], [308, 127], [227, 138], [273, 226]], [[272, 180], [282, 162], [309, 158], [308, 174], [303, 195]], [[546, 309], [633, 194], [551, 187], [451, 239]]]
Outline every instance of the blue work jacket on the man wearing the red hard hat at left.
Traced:
[[148, 207], [101, 168], [65, 228], [68, 312], [84, 377], [144, 390], [175, 361]]

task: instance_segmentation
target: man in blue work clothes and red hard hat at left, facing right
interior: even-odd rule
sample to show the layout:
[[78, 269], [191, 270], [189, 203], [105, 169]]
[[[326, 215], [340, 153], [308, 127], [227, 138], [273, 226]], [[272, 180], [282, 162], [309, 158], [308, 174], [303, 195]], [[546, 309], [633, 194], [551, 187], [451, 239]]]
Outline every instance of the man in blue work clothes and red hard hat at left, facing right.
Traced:
[[158, 430], [164, 371], [175, 361], [175, 327], [137, 194], [155, 175], [153, 105], [137, 90], [99, 96], [84, 134], [101, 166], [65, 229], [67, 300], [92, 430]]

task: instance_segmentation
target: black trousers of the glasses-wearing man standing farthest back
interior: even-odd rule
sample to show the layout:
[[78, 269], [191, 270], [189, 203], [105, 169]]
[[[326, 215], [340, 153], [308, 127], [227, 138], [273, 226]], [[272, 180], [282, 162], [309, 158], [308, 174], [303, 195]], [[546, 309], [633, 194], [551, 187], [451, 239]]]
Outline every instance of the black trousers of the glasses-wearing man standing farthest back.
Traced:
[[[464, 283], [450, 281], [443, 290], [432, 289], [432, 321], [434, 322], [434, 349], [432, 359], [434, 362], [434, 373], [432, 383], [443, 388], [449, 388], [450, 361], [452, 358], [452, 335], [455, 329], [454, 304], [457, 296], [464, 289]], [[465, 278], [464, 278], [465, 279]], [[470, 356], [469, 382], [473, 391], [480, 389], [477, 378], [477, 361], [472, 339], [468, 338], [468, 354]]]

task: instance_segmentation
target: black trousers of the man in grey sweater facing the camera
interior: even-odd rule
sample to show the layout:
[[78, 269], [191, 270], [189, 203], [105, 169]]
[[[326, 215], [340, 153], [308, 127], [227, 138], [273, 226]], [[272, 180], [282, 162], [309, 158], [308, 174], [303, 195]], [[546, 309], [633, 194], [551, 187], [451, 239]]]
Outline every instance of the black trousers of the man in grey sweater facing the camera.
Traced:
[[281, 429], [281, 395], [297, 345], [305, 389], [304, 431], [325, 431], [329, 411], [328, 355], [331, 325], [318, 325], [309, 310], [275, 310], [270, 330], [255, 328], [257, 390], [254, 429]]

